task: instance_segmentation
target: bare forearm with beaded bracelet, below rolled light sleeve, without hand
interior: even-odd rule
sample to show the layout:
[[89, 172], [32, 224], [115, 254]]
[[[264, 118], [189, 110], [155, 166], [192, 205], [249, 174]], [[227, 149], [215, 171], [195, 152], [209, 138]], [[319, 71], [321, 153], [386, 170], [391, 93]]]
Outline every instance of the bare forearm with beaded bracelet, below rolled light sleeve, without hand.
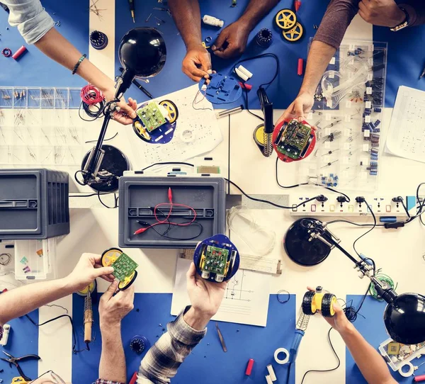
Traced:
[[[55, 60], [55, 62], [63, 65], [70, 71], [74, 69], [75, 64], [77, 64], [82, 55], [81, 52], [57, 32], [55, 28], [50, 29], [49, 32], [35, 43], [35, 46], [50, 57], [50, 59]], [[88, 59], [81, 62], [77, 69], [77, 74], [88, 83], [97, 86], [101, 91], [106, 91], [114, 86], [114, 82], [100, 69], [95, 67], [94, 64], [91, 64]]]

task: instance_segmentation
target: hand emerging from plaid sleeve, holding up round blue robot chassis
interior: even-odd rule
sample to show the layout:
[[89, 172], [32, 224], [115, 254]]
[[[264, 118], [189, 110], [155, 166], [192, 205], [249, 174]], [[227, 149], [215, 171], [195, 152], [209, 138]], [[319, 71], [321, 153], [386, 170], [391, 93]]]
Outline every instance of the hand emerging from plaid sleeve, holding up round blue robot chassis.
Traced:
[[188, 294], [191, 299], [191, 310], [184, 319], [195, 329], [204, 329], [211, 317], [217, 313], [225, 296], [226, 282], [213, 283], [196, 273], [195, 264], [191, 263], [186, 273]]

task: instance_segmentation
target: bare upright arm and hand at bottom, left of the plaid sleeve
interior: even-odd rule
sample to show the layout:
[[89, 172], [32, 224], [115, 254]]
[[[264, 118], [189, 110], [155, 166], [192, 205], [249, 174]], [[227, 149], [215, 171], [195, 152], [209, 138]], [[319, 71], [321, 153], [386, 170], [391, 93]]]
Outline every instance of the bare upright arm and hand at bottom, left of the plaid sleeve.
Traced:
[[[97, 383], [126, 383], [127, 371], [123, 341], [121, 339], [121, 320], [134, 307], [134, 286], [120, 290], [117, 281], [113, 281], [103, 293], [99, 302], [99, 324], [102, 336], [101, 362], [99, 363], [99, 378]], [[97, 384], [96, 383], [96, 384]]]

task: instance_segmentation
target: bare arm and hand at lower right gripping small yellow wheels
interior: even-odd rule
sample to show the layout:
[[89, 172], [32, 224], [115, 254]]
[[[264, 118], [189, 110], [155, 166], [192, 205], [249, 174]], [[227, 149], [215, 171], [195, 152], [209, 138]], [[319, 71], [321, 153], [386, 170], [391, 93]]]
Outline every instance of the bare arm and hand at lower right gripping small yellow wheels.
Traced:
[[334, 317], [324, 319], [341, 335], [365, 380], [369, 384], [397, 384], [382, 356], [348, 321], [341, 306], [335, 304], [334, 310]]

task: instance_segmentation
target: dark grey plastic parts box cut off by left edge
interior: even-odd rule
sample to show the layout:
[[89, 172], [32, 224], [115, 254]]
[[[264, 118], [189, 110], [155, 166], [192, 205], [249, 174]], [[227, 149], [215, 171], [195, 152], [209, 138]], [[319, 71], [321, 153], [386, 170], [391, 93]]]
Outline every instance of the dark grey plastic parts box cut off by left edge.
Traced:
[[47, 239], [68, 233], [67, 172], [0, 169], [0, 240]]

